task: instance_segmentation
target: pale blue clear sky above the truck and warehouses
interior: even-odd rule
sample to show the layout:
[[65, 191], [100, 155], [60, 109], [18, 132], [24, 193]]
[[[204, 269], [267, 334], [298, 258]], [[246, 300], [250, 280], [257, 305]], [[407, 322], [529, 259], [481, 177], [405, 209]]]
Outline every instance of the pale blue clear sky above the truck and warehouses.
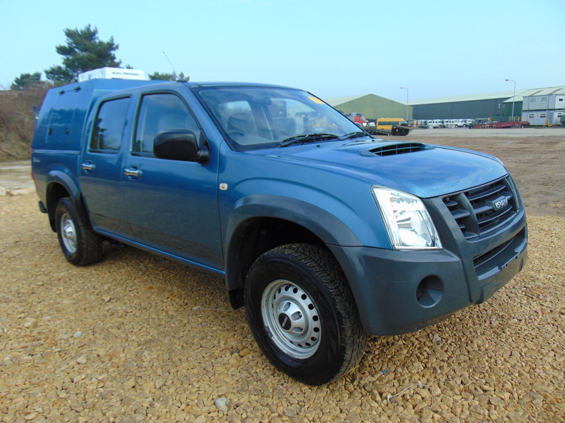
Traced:
[[[191, 81], [406, 101], [565, 85], [564, 0], [0, 0], [0, 86], [61, 63], [64, 28], [98, 28], [116, 57]], [[6, 19], [7, 18], [7, 19]]]

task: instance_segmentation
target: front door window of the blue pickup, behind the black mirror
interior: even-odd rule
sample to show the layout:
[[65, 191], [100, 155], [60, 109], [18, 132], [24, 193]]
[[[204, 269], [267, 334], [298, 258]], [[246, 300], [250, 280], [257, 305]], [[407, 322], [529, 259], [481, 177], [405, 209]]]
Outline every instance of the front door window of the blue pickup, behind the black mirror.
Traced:
[[161, 131], [192, 131], [200, 139], [200, 128], [184, 102], [175, 94], [147, 94], [141, 100], [132, 152], [153, 153], [153, 141]]

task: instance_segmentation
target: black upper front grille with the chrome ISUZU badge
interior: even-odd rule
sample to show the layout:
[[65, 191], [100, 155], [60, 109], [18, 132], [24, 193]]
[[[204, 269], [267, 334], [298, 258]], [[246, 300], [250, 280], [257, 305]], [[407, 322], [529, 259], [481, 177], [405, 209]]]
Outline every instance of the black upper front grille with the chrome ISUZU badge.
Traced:
[[452, 194], [443, 200], [467, 239], [492, 232], [516, 215], [516, 200], [508, 178]]

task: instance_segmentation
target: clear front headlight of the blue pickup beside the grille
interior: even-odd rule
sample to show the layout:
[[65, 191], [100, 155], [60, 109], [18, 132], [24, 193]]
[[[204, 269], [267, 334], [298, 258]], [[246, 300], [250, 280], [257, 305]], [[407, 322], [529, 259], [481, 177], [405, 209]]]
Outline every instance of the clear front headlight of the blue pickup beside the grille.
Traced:
[[396, 250], [427, 250], [441, 247], [424, 203], [407, 192], [379, 186], [371, 187], [379, 206], [390, 242]]

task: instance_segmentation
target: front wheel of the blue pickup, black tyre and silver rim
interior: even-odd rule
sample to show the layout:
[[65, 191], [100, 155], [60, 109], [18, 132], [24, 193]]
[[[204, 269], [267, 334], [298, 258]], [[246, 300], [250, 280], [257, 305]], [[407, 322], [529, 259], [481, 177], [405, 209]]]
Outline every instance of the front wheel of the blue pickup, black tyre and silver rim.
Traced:
[[268, 360], [308, 385], [341, 377], [367, 343], [343, 271], [318, 246], [289, 244], [261, 255], [247, 274], [245, 311]]

